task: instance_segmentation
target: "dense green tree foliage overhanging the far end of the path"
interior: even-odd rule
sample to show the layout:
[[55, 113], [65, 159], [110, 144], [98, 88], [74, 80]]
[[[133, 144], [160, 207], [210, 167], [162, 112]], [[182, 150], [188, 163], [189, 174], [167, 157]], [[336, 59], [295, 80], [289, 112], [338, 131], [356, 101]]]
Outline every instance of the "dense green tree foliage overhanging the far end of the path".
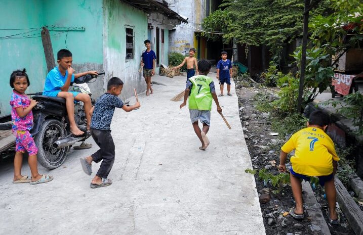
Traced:
[[[205, 31], [223, 32], [224, 40], [236, 38], [247, 45], [264, 44], [277, 55], [284, 44], [300, 36], [303, 28], [304, 1], [301, 0], [224, 0], [223, 10], [205, 18]], [[328, 14], [329, 1], [319, 2], [310, 14]], [[206, 33], [212, 40], [219, 34]]]

